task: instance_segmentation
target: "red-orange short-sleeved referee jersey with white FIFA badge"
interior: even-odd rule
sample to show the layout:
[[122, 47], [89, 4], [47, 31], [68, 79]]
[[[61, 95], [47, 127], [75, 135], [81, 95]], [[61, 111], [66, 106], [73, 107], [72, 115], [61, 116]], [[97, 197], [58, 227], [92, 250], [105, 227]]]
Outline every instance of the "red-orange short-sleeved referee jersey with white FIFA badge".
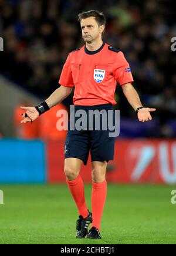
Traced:
[[93, 52], [86, 46], [70, 52], [59, 79], [62, 86], [75, 86], [73, 103], [80, 106], [116, 105], [117, 82], [133, 82], [133, 76], [123, 52], [106, 43]]

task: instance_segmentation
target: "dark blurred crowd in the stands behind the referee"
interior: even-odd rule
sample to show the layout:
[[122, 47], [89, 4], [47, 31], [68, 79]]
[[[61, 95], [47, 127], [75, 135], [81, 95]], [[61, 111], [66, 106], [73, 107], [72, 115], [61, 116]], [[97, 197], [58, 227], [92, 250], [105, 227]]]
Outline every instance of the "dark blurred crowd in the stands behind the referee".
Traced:
[[[174, 1], [0, 0], [0, 73], [46, 99], [58, 87], [68, 53], [84, 44], [77, 14], [90, 9], [104, 12], [103, 40], [124, 52], [143, 105], [157, 108], [157, 135], [174, 136], [168, 124], [176, 118]], [[134, 117], [119, 86], [116, 100], [123, 117]]]

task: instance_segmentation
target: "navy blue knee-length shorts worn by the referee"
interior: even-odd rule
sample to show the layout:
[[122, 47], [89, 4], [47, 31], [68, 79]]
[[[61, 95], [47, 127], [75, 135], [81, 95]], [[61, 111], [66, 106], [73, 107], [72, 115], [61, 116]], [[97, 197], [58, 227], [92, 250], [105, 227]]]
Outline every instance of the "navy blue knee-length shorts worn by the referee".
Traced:
[[[73, 125], [76, 125], [76, 121], [80, 119], [79, 117], [75, 117], [75, 120], [72, 122], [69, 120], [69, 129], [66, 136], [65, 141], [65, 158], [74, 157], [83, 161], [84, 165], [87, 164], [87, 160], [89, 157], [89, 151], [91, 154], [92, 161], [109, 161], [113, 160], [114, 157], [114, 137], [110, 137], [108, 116], [111, 113], [111, 117], [114, 123], [114, 110], [113, 106], [110, 104], [104, 105], [96, 105], [96, 106], [75, 106], [75, 113], [77, 110], [85, 110], [84, 113], [84, 121], [87, 120], [87, 127], [82, 130], [73, 130], [70, 129], [70, 122]], [[94, 115], [92, 121], [90, 122], [89, 118], [89, 110], [105, 110], [107, 113], [107, 118], [104, 119], [104, 116], [100, 114], [100, 127], [97, 130], [95, 127], [95, 122], [97, 120], [97, 116]], [[111, 110], [111, 112], [108, 112]], [[106, 114], [105, 114], [106, 116]], [[82, 116], [83, 117], [83, 116]], [[89, 123], [93, 123], [93, 128], [90, 129]], [[81, 123], [80, 123], [81, 124]], [[97, 123], [96, 123], [97, 124]], [[107, 124], [107, 129], [104, 130], [104, 124]]]

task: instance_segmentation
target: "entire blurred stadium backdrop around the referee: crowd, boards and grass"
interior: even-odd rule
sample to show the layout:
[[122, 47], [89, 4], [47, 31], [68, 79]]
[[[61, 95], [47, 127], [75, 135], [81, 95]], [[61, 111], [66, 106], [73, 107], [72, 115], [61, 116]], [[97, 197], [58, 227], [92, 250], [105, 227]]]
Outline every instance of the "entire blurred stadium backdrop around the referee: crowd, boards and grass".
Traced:
[[[32, 125], [20, 123], [19, 106], [36, 105], [59, 86], [68, 53], [83, 45], [77, 14], [90, 9], [104, 12], [103, 40], [124, 52], [143, 105], [157, 108], [151, 122], [138, 122], [117, 86], [120, 136], [107, 167], [102, 230], [109, 236], [101, 242], [176, 241], [174, 1], [0, 0], [0, 243], [77, 242], [77, 213], [63, 174], [66, 133], [56, 130], [56, 112], [69, 109], [73, 93]], [[87, 183], [90, 166], [89, 160], [81, 171]], [[90, 197], [89, 184], [86, 193]], [[65, 233], [58, 238], [60, 227]]]

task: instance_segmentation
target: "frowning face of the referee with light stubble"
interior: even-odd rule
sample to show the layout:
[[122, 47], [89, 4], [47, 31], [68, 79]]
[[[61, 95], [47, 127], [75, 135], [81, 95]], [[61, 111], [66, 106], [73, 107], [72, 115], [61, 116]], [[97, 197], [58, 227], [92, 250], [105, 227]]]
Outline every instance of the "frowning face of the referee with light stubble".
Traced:
[[80, 22], [84, 42], [92, 43], [101, 36], [104, 26], [99, 26], [94, 17], [82, 19]]

